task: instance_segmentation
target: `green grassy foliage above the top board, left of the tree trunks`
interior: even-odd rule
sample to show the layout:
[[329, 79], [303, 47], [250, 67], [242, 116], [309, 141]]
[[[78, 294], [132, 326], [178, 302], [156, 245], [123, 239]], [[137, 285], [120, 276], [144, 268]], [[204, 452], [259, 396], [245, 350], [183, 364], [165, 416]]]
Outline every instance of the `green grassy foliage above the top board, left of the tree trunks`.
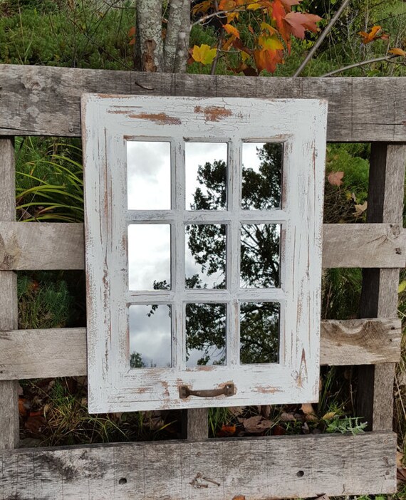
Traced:
[[[78, 68], [132, 67], [132, 9], [94, 10], [87, 2], [0, 17], [0, 63]], [[52, 3], [53, 2], [49, 2]], [[54, 4], [55, 5], [55, 4]]]

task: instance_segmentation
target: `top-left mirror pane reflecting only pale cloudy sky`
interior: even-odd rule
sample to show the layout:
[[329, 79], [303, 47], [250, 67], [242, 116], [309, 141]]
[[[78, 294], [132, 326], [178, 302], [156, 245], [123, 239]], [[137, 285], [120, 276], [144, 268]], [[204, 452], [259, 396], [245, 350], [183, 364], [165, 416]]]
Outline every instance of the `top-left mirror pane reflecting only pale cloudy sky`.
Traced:
[[170, 209], [170, 142], [127, 142], [127, 206]]

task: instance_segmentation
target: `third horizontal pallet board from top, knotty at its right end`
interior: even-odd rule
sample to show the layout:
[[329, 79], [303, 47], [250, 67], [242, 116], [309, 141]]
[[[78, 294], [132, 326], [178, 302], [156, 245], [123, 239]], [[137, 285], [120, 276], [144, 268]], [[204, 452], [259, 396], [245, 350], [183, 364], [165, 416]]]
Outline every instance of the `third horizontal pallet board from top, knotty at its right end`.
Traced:
[[[400, 358], [399, 319], [321, 322], [322, 365], [370, 365]], [[85, 328], [0, 332], [0, 380], [86, 374]]]

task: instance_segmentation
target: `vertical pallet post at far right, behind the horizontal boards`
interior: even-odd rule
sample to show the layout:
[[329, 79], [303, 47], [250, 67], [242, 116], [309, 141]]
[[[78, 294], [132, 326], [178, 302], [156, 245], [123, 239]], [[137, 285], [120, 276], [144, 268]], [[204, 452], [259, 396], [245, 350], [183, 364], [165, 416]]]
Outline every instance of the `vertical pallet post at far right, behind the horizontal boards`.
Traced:
[[[374, 144], [371, 150], [367, 222], [402, 224], [406, 144]], [[397, 314], [399, 269], [364, 269], [360, 314]], [[358, 370], [357, 414], [374, 430], [392, 429], [393, 363]]]

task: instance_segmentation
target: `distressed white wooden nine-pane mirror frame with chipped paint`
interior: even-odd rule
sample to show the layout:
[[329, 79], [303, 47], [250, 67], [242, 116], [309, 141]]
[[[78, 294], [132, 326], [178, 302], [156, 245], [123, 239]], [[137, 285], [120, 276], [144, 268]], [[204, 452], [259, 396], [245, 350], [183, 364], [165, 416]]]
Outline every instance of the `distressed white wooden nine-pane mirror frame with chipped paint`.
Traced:
[[[324, 100], [83, 95], [90, 412], [317, 400], [326, 116]], [[128, 211], [125, 142], [152, 138], [171, 142], [172, 209]], [[227, 210], [184, 210], [184, 140], [228, 143]], [[240, 209], [244, 140], [283, 142], [281, 209]], [[175, 226], [171, 291], [128, 291], [130, 222]], [[231, 227], [227, 290], [184, 290], [184, 224], [192, 222]], [[241, 222], [282, 224], [280, 288], [239, 288]], [[230, 325], [239, 321], [239, 301], [281, 303], [279, 363], [239, 365], [234, 328], [227, 336], [227, 365], [185, 368], [186, 301], [228, 303]], [[173, 321], [182, 325], [172, 328], [172, 368], [130, 370], [130, 303], [172, 304]], [[233, 395], [179, 397], [179, 387], [207, 391], [231, 383]]]

